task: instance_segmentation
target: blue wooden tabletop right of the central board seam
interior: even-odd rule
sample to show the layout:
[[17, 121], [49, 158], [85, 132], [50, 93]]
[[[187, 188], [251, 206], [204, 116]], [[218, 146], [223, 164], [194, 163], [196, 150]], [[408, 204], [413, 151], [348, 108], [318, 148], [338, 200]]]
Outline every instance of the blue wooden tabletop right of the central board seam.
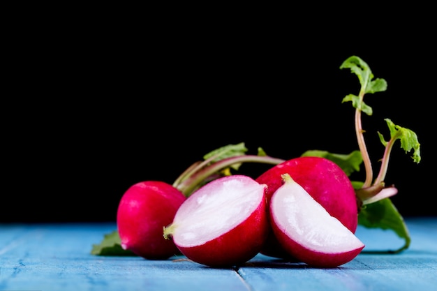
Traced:
[[[371, 243], [351, 262], [333, 269], [315, 269], [302, 263], [283, 262], [260, 256], [239, 274], [252, 290], [437, 290], [437, 218], [407, 221], [412, 242], [398, 254], [375, 254], [386, 250], [397, 237], [381, 230], [361, 228], [357, 235]], [[398, 241], [397, 241], [398, 242]], [[364, 248], [364, 250], [366, 250]], [[259, 260], [257, 260], [259, 258]]]

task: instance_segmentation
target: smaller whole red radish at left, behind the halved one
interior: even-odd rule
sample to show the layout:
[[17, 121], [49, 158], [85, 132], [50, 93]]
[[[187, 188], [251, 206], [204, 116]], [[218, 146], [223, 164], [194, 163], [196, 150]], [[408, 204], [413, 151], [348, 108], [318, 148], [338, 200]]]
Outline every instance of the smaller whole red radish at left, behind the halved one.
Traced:
[[177, 188], [162, 181], [142, 181], [124, 193], [117, 209], [121, 247], [149, 260], [165, 260], [180, 254], [163, 228], [173, 221], [186, 200]]

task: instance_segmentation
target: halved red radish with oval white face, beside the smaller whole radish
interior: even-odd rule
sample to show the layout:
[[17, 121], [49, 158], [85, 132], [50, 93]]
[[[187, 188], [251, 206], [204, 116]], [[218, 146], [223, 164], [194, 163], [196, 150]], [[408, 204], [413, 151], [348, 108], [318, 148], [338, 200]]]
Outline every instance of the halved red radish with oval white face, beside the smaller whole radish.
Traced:
[[210, 181], [179, 207], [164, 235], [194, 262], [244, 264], [259, 253], [269, 232], [265, 189], [244, 175]]

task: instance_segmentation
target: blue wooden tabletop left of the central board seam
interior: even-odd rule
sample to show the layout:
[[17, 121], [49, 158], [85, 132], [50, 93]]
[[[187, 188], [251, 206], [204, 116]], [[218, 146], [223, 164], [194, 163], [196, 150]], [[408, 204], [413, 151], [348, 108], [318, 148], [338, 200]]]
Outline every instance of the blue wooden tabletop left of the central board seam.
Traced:
[[113, 224], [1, 226], [0, 290], [248, 290], [233, 269], [91, 255], [111, 230]]

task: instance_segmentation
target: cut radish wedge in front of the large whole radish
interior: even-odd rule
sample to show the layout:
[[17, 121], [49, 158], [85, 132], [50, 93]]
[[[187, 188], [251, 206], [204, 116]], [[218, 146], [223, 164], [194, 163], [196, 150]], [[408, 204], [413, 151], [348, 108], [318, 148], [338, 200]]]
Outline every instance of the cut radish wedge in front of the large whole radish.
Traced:
[[337, 267], [364, 248], [355, 234], [309, 195], [289, 174], [272, 195], [269, 218], [281, 246], [313, 267]]

